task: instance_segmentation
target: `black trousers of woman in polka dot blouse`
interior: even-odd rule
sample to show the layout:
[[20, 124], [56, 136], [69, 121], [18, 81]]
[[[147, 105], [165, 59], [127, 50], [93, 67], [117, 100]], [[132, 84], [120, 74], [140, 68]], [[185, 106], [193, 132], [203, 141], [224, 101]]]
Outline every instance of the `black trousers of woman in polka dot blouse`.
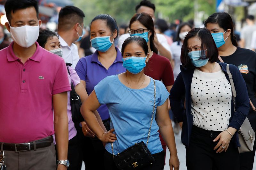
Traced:
[[213, 148], [219, 141], [212, 140], [220, 134], [193, 125], [189, 147], [186, 147], [188, 170], [239, 170], [239, 153], [231, 140], [227, 152], [216, 153]]

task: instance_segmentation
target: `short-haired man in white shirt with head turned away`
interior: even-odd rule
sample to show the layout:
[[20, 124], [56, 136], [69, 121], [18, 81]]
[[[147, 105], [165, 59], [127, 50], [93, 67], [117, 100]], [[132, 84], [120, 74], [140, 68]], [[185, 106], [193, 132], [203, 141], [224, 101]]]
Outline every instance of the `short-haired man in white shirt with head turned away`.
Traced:
[[78, 48], [75, 41], [84, 36], [84, 12], [75, 6], [66, 6], [60, 10], [58, 34], [63, 58], [75, 69], [79, 61]]

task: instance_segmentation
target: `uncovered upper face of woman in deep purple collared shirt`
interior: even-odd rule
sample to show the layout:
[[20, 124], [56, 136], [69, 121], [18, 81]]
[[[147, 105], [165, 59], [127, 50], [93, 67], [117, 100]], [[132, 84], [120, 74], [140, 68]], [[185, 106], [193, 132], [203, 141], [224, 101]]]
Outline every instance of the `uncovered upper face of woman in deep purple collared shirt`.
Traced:
[[[97, 19], [91, 24], [91, 39], [96, 37], [110, 36], [112, 34], [111, 30], [107, 26], [107, 21]], [[116, 30], [113, 32], [113, 35], [110, 37], [110, 41], [116, 38]]]

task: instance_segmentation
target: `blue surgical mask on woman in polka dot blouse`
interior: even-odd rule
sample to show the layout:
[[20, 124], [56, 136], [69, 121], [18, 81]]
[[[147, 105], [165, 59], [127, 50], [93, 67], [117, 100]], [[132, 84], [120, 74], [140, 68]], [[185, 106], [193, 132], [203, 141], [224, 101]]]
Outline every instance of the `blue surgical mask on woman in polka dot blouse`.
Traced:
[[[204, 55], [203, 57], [205, 57], [205, 51], [203, 50]], [[204, 65], [206, 65], [209, 61], [209, 58], [206, 59], [201, 59], [201, 50], [198, 51], [191, 51], [188, 53], [189, 58], [191, 59], [191, 63], [195, 66], [195, 67], [203, 67]]]

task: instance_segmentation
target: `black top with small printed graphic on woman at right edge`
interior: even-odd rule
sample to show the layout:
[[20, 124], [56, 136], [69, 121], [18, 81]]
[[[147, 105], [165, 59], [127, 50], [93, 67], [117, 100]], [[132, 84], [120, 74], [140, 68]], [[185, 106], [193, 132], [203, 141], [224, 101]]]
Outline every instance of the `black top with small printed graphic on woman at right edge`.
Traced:
[[[221, 58], [225, 63], [238, 67], [246, 83], [249, 98], [256, 107], [256, 53], [249, 49], [237, 47], [235, 53], [225, 57], [221, 56]], [[250, 106], [251, 111], [252, 107]]]

